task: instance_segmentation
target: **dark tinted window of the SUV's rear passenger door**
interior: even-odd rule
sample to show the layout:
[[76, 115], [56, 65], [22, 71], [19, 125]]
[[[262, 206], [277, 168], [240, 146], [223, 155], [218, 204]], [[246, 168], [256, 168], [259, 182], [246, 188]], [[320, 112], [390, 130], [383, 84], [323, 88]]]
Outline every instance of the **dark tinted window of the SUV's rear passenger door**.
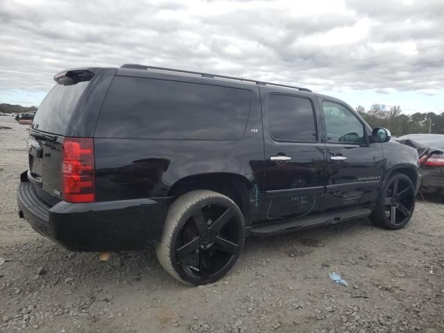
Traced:
[[273, 139], [289, 142], [317, 140], [314, 111], [309, 99], [271, 94], [267, 107], [268, 127]]

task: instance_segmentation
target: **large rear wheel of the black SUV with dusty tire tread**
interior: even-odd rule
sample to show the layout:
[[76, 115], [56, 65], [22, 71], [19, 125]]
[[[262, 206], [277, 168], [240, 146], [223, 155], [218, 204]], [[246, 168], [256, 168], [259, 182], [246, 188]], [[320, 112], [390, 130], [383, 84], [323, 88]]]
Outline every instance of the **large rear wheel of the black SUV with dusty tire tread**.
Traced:
[[244, 239], [244, 216], [236, 203], [214, 191], [196, 190], [171, 204], [156, 253], [176, 280], [208, 284], [230, 271]]

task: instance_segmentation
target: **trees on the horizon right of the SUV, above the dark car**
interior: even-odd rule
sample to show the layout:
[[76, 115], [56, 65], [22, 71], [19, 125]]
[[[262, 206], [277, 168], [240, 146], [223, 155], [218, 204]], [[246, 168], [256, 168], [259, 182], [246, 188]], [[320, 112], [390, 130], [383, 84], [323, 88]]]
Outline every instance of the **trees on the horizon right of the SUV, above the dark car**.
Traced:
[[370, 110], [359, 105], [356, 110], [372, 128], [388, 128], [395, 136], [412, 133], [444, 134], [444, 112], [416, 112], [407, 115], [402, 113], [399, 105], [386, 108], [382, 104], [373, 104]]

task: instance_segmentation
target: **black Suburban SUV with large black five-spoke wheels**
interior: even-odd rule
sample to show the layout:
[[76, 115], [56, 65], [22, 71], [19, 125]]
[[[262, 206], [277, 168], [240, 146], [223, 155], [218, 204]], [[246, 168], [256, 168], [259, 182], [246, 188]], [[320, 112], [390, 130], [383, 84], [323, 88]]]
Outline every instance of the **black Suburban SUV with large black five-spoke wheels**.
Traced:
[[19, 216], [70, 250], [157, 246], [206, 284], [246, 236], [409, 222], [413, 148], [309, 89], [141, 65], [70, 69], [37, 110]]

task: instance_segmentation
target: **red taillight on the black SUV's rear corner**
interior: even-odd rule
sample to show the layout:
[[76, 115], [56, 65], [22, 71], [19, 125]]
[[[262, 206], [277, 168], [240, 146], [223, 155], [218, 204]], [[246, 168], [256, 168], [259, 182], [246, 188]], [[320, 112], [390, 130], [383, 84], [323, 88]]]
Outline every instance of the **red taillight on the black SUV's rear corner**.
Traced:
[[92, 203], [94, 141], [89, 137], [66, 137], [62, 145], [63, 199], [69, 203]]

